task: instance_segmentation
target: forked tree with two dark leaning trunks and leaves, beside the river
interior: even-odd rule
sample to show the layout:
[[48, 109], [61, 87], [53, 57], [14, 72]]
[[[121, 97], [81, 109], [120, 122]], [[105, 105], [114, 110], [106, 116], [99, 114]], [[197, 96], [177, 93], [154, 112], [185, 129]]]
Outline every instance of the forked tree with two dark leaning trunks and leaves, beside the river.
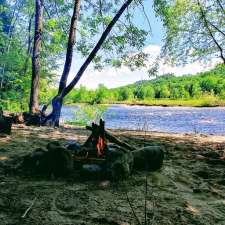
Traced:
[[[61, 107], [62, 107], [62, 102], [64, 97], [74, 88], [74, 86], [78, 83], [78, 81], [80, 80], [81, 76], [83, 75], [83, 73], [85, 72], [86, 68], [89, 66], [89, 64], [95, 60], [95, 63], [100, 64], [102, 63], [110, 63], [110, 59], [113, 57], [111, 56], [110, 58], [105, 56], [105, 55], [97, 55], [97, 53], [99, 52], [99, 50], [103, 47], [103, 49], [107, 52], [114, 52], [113, 50], [119, 48], [119, 51], [117, 50], [116, 52], [114, 52], [114, 54], [116, 55], [116, 57], [120, 57], [120, 54], [123, 53], [123, 57], [124, 54], [126, 54], [126, 58], [128, 58], [128, 53], [125, 52], [124, 53], [124, 49], [120, 47], [120, 45], [122, 45], [124, 47], [125, 42], [124, 40], [126, 40], [126, 43], [128, 43], [128, 47], [131, 46], [133, 48], [136, 48], [138, 50], [140, 50], [140, 47], [144, 46], [144, 40], [147, 36], [147, 32], [144, 32], [143, 30], [141, 30], [140, 32], [141, 35], [139, 35], [139, 29], [136, 28], [135, 30], [133, 30], [134, 26], [131, 24], [131, 15], [128, 12], [127, 17], [125, 17], [125, 22], [123, 22], [123, 25], [125, 24], [125, 26], [120, 26], [117, 27], [117, 22], [119, 21], [119, 19], [121, 19], [122, 15], [124, 14], [125, 10], [128, 10], [129, 6], [131, 5], [131, 3], [133, 2], [133, 0], [127, 0], [125, 1], [121, 8], [119, 10], [117, 10], [116, 13], [114, 13], [115, 15], [111, 18], [110, 17], [110, 10], [113, 9], [113, 4], [110, 5], [106, 5], [107, 7], [104, 10], [104, 6], [105, 4], [101, 1], [97, 1], [96, 4], [92, 1], [91, 4], [88, 2], [88, 6], [84, 7], [85, 8], [85, 13], [88, 15], [87, 17], [86, 14], [85, 16], [83, 16], [83, 18], [81, 19], [81, 26], [85, 25], [85, 28], [83, 28], [84, 31], [88, 31], [88, 33], [90, 33], [92, 35], [92, 39], [91, 37], [89, 37], [89, 39], [86, 39], [86, 37], [88, 37], [87, 35], [81, 35], [81, 40], [82, 42], [80, 42], [78, 44], [78, 50], [85, 56], [87, 55], [86, 60], [84, 61], [83, 65], [80, 67], [80, 69], [78, 70], [77, 74], [75, 75], [74, 79], [68, 84], [68, 86], [66, 86], [66, 81], [67, 81], [67, 77], [68, 77], [68, 72], [70, 69], [70, 65], [71, 65], [71, 61], [72, 61], [72, 48], [73, 48], [73, 43], [75, 40], [75, 35], [73, 34], [74, 30], [77, 29], [77, 21], [75, 18], [77, 18], [79, 16], [79, 14], [82, 15], [82, 13], [77, 13], [80, 10], [80, 0], [75, 0], [75, 6], [74, 6], [74, 10], [73, 10], [73, 16], [72, 16], [72, 20], [71, 20], [71, 24], [70, 24], [70, 33], [69, 33], [69, 38], [68, 38], [68, 45], [67, 45], [67, 55], [66, 55], [66, 62], [64, 65], [64, 71], [60, 80], [60, 85], [59, 85], [59, 92], [58, 95], [56, 95], [53, 100], [52, 100], [52, 107], [53, 110], [52, 112], [44, 118], [44, 124], [50, 120], [53, 122], [53, 124], [55, 126], [59, 125], [59, 118], [60, 118], [60, 114], [61, 114]], [[94, 4], [94, 5], [93, 5]], [[91, 6], [91, 8], [93, 8], [92, 10], [88, 10], [89, 7]], [[96, 11], [96, 9], [98, 9], [98, 11]], [[107, 17], [104, 18], [104, 11], [107, 12]], [[94, 13], [93, 13], [94, 12]], [[93, 16], [90, 16], [93, 15]], [[96, 16], [97, 15], [97, 16]], [[96, 16], [96, 17], [94, 17]], [[92, 18], [92, 19], [89, 19]], [[123, 18], [122, 18], [123, 19]], [[109, 48], [109, 46], [112, 45], [112, 43], [109, 44], [109, 46], [105, 46], [106, 48], [104, 48], [104, 45], [107, 44], [107, 41], [110, 41], [110, 37], [112, 38], [112, 36], [110, 36], [110, 33], [112, 32], [113, 28], [118, 28], [119, 30], [117, 32], [123, 32], [123, 27], [125, 27], [127, 29], [126, 26], [126, 20], [129, 21], [129, 25], [128, 27], [132, 28], [132, 30], [130, 30], [130, 34], [134, 35], [134, 37], [136, 37], [137, 39], [139, 39], [138, 42], [132, 42], [129, 41], [130, 37], [129, 35], [125, 36], [125, 33], [123, 35], [116, 34], [117, 36], [113, 36], [113, 38], [121, 38], [118, 39], [120, 41], [118, 41], [117, 43], [114, 43], [113, 46], [115, 47], [115, 49], [113, 47]], [[88, 22], [88, 23], [87, 23]], [[102, 30], [100, 29], [100, 25], [102, 25]], [[89, 28], [90, 27], [90, 28]], [[88, 28], [90, 30], [88, 30]], [[81, 28], [82, 29], [82, 28]], [[125, 29], [125, 30], [126, 30]], [[114, 29], [115, 30], [115, 29]], [[127, 31], [127, 30], [126, 30]], [[87, 33], [87, 34], [88, 34]], [[99, 36], [100, 35], [100, 36]], [[99, 36], [99, 37], [98, 37]], [[99, 40], [98, 40], [99, 38]], [[141, 38], [141, 39], [140, 39]], [[89, 40], [96, 42], [96, 44], [91, 46], [88, 46], [89, 44]], [[90, 42], [91, 43], [91, 42]], [[82, 48], [80, 48], [80, 46], [82, 46]], [[94, 46], [94, 48], [92, 47]], [[84, 51], [85, 49], [85, 51]], [[132, 52], [130, 51], [129, 54], [131, 54]], [[140, 53], [138, 52], [136, 55], [140, 55]], [[142, 54], [143, 55], [143, 54]], [[69, 57], [68, 57], [69, 56]], [[97, 61], [96, 61], [97, 58]], [[131, 57], [133, 61], [138, 61], [138, 62], [142, 62], [143, 60], [146, 60], [147, 57]], [[120, 59], [122, 61], [122, 58]], [[121, 63], [122, 64], [122, 63]], [[120, 64], [120, 65], [121, 65]], [[116, 64], [112, 64], [113, 66], [116, 66]], [[135, 64], [138, 66], [143, 65], [143, 63], [138, 63]], [[118, 66], [118, 65], [117, 65]], [[67, 71], [65, 73], [65, 71]], [[46, 110], [46, 107], [44, 107], [44, 110]]]

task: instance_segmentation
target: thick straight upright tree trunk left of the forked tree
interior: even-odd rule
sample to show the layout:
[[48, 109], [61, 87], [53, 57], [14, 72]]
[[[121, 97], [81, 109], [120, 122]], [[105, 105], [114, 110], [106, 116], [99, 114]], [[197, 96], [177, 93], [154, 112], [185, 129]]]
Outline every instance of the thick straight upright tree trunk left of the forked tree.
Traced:
[[40, 51], [43, 26], [43, 0], [36, 0], [35, 33], [32, 56], [32, 81], [30, 93], [30, 113], [39, 111], [39, 83], [40, 83]]

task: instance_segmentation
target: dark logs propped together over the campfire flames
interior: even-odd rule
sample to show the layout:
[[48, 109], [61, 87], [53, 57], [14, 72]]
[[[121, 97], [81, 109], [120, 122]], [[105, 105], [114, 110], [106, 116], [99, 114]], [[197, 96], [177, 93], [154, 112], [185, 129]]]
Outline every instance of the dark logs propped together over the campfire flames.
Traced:
[[[100, 125], [97, 124], [92, 124], [92, 126], [86, 126], [87, 130], [92, 131], [92, 133], [96, 133], [97, 130], [99, 130], [100, 132], [103, 132], [103, 136], [105, 139], [108, 139], [110, 142], [115, 143], [123, 148], [129, 149], [131, 151], [136, 150], [135, 147], [119, 140], [118, 138], [116, 138], [115, 136], [113, 136], [112, 134], [110, 134], [108, 131], [106, 131], [105, 129], [102, 131], [102, 126], [101, 124], [104, 123], [104, 121], [100, 120]], [[93, 135], [91, 135], [88, 140], [85, 142], [84, 146], [87, 146], [88, 143], [91, 141]]]

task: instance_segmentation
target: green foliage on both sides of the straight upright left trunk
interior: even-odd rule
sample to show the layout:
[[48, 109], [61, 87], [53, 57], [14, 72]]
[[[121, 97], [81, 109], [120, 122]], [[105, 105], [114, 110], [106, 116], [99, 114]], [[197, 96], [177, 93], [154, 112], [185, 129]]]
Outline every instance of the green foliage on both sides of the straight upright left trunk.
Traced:
[[[32, 74], [33, 13], [34, 1], [2, 0], [0, 4], [0, 106], [4, 110], [28, 110]], [[51, 34], [54, 33], [54, 21], [46, 20], [46, 26], [48, 25]], [[49, 87], [54, 79], [51, 71], [56, 68], [56, 61], [52, 56], [59, 53], [59, 50], [56, 50], [58, 44], [54, 47], [51, 44], [50, 32], [47, 34], [43, 39], [45, 44], [42, 46], [41, 53], [41, 103], [49, 101], [51, 97]], [[49, 50], [50, 48], [51, 50]], [[49, 60], [50, 58], [51, 60]]]

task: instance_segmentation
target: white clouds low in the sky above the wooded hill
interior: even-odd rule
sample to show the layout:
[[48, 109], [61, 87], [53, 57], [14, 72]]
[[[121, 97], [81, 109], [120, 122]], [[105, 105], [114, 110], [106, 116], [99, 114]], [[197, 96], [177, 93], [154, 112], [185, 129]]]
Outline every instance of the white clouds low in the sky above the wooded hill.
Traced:
[[[160, 46], [158, 45], [149, 45], [144, 49], [145, 53], [150, 54], [149, 63], [152, 64], [155, 58], [160, 54]], [[182, 67], [175, 67], [168, 64], [159, 64], [159, 74], [167, 74], [174, 73], [175, 75], [181, 76], [184, 74], [195, 74], [204, 70], [209, 69], [218, 63], [218, 60], [213, 60], [212, 62], [205, 64], [200, 62], [195, 62], [192, 64], [188, 64]], [[76, 62], [77, 64], [81, 64], [81, 60]], [[72, 64], [71, 73], [69, 76], [69, 81], [72, 80], [77, 66], [75, 63]], [[87, 71], [82, 76], [81, 80], [78, 83], [79, 85], [84, 85], [87, 88], [97, 88], [99, 84], [104, 84], [108, 88], [119, 87], [127, 84], [132, 84], [139, 80], [149, 79], [147, 69], [142, 68], [136, 71], [130, 71], [126, 67], [121, 67], [120, 69], [116, 68], [106, 68], [101, 72], [95, 71], [93, 67], [87, 69]]]

